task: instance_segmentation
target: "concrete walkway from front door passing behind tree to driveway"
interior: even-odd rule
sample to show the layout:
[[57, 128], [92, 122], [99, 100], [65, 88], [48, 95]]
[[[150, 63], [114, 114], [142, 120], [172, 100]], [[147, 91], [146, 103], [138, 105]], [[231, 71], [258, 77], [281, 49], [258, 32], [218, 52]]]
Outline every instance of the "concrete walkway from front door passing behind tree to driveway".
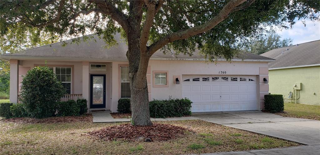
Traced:
[[[114, 122], [130, 122], [130, 119], [120, 118], [114, 119], [110, 111], [91, 112], [93, 116], [93, 123], [114, 123]], [[151, 121], [168, 121], [168, 120], [199, 120], [196, 117], [173, 117], [173, 118], [151, 118]]]

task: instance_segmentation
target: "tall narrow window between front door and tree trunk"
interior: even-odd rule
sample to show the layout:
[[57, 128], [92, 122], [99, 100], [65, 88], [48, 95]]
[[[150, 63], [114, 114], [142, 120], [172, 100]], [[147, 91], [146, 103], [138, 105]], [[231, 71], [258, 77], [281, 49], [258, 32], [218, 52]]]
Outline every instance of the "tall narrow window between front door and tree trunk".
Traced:
[[131, 89], [130, 89], [130, 79], [129, 79], [129, 67], [120, 66], [121, 72], [121, 98], [130, 98]]

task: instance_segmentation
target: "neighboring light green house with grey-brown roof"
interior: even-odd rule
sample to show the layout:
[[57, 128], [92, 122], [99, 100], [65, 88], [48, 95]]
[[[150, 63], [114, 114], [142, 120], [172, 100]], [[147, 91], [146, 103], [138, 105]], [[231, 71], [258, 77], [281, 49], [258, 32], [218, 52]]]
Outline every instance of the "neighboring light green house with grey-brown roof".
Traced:
[[273, 49], [261, 56], [276, 59], [268, 63], [269, 93], [284, 95], [285, 102], [320, 105], [320, 40]]

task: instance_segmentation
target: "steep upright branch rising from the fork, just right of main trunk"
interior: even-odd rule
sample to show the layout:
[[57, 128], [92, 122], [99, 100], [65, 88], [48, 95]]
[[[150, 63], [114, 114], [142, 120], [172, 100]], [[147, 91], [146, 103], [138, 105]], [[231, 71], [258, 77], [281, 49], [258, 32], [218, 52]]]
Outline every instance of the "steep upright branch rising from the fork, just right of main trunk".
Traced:
[[163, 0], [159, 0], [158, 2], [150, 2], [148, 0], [145, 0], [145, 3], [147, 5], [147, 14], [146, 14], [146, 20], [143, 23], [142, 26], [142, 32], [140, 36], [140, 50], [141, 52], [146, 52], [147, 50], [147, 42], [149, 40], [149, 34], [150, 34], [150, 28], [153, 25], [153, 19], [156, 15], [156, 13], [160, 10], [162, 4], [164, 3]]

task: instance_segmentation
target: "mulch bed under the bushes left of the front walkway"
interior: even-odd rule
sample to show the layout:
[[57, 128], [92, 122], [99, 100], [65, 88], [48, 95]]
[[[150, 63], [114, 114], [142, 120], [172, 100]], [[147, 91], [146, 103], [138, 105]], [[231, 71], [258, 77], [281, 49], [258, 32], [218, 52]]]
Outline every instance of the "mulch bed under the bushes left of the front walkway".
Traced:
[[82, 116], [60, 116], [49, 117], [44, 119], [18, 117], [10, 119], [1, 119], [0, 122], [13, 122], [13, 123], [71, 123], [71, 122], [92, 122], [92, 114], [84, 114]]

